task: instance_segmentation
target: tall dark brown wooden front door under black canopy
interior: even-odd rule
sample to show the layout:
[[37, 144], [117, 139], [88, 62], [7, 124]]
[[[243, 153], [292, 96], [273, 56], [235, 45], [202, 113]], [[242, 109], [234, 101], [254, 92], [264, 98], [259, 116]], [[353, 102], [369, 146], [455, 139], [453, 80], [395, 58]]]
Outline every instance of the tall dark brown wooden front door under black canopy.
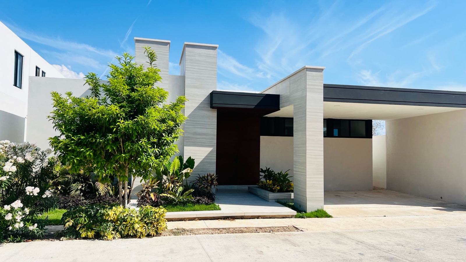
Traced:
[[219, 185], [255, 185], [259, 182], [260, 116], [217, 110], [217, 164]]

